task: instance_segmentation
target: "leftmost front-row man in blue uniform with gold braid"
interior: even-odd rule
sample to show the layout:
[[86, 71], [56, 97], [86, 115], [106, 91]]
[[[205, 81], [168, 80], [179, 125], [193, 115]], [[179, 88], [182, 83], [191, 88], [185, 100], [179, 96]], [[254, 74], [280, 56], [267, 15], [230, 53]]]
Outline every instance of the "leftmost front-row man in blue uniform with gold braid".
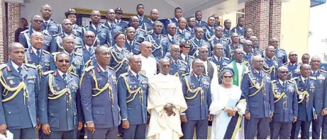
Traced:
[[0, 134], [8, 129], [13, 139], [35, 139], [39, 129], [38, 87], [36, 67], [24, 64], [24, 47], [14, 42], [9, 45], [10, 60], [0, 65]]

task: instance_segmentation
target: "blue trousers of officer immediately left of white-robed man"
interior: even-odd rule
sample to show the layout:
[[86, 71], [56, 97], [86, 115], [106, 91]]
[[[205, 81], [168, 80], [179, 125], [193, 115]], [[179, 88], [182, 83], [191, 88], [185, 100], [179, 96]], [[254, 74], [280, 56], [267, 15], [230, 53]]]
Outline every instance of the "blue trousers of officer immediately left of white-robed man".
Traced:
[[123, 139], [146, 139], [146, 124], [130, 124], [128, 129], [123, 129]]

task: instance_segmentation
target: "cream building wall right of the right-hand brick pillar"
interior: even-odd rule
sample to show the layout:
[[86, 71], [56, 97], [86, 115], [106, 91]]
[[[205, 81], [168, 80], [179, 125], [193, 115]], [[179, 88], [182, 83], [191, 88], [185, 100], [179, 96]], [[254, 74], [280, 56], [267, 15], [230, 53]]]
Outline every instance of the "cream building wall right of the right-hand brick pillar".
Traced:
[[296, 51], [301, 55], [308, 51], [310, 0], [289, 0], [282, 3], [282, 27], [280, 47], [287, 54]]

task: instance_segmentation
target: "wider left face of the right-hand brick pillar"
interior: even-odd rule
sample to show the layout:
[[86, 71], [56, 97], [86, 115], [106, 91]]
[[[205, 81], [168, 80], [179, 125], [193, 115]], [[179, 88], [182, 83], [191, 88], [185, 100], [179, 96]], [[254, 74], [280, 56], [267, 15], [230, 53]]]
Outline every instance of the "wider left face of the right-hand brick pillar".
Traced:
[[260, 48], [268, 46], [270, 0], [245, 1], [245, 25], [252, 28]]

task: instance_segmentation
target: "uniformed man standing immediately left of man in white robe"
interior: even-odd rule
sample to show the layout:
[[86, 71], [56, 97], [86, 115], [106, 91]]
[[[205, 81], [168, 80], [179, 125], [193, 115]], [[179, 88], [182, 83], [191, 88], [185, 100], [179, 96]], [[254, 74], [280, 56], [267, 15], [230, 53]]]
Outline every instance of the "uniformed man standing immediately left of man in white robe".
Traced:
[[148, 78], [140, 74], [141, 59], [129, 59], [131, 70], [118, 78], [118, 105], [123, 120], [123, 139], [145, 139]]

